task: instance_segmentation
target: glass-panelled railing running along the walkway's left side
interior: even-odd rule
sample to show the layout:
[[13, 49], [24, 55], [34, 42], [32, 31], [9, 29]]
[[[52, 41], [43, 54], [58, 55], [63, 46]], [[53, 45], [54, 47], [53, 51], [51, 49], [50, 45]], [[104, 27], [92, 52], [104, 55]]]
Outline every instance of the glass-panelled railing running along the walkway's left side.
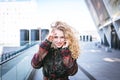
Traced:
[[32, 66], [31, 59], [37, 51], [36, 43], [26, 45], [24, 48], [4, 54], [0, 62], [0, 80], [27, 80]]

